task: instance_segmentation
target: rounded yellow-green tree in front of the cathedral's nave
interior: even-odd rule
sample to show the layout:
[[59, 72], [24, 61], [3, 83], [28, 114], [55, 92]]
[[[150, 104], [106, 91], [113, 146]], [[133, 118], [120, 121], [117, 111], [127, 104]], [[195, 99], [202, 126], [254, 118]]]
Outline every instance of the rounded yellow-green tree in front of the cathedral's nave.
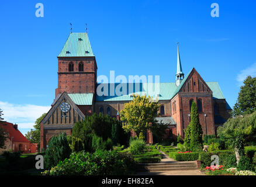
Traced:
[[150, 129], [150, 124], [154, 126], [155, 117], [159, 105], [152, 102], [150, 96], [140, 96], [133, 94], [133, 101], [124, 104], [123, 110], [120, 111], [120, 119], [123, 121], [125, 131], [133, 130], [137, 136]]

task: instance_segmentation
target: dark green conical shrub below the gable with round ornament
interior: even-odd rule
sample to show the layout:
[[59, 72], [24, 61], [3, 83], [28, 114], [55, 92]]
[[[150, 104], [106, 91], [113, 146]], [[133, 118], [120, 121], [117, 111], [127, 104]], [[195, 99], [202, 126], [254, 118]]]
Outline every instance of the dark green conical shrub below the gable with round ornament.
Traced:
[[69, 158], [70, 153], [71, 148], [68, 145], [67, 136], [64, 133], [52, 137], [44, 155], [46, 168], [50, 169], [56, 166], [58, 162]]

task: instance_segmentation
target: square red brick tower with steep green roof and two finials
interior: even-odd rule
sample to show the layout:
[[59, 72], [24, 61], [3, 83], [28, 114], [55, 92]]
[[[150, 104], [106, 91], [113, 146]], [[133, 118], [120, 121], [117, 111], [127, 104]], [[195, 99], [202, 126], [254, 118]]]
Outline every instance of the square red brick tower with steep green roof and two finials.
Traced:
[[97, 64], [86, 33], [70, 33], [58, 55], [58, 88], [55, 96], [95, 93]]

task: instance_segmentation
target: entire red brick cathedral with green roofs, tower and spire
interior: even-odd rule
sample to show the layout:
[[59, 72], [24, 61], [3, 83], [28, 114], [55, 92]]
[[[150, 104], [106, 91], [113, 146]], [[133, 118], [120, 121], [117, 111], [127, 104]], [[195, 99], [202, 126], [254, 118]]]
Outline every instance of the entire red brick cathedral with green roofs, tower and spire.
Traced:
[[[116, 93], [98, 95], [96, 90], [101, 89], [99, 87], [102, 87], [102, 84], [96, 81], [98, 67], [87, 33], [70, 33], [57, 58], [58, 88], [55, 90], [51, 109], [40, 123], [40, 148], [46, 149], [50, 138], [61, 132], [71, 135], [75, 123], [94, 112], [118, 119], [118, 112], [123, 109], [124, 103], [132, 101], [132, 93], [155, 95], [147, 83], [132, 83], [133, 89], [127, 90], [121, 96]], [[160, 109], [156, 120], [168, 124], [168, 136], [184, 137], [193, 101], [198, 106], [203, 133], [216, 134], [217, 127], [229, 119], [231, 110], [219, 84], [205, 82], [195, 68], [184, 75], [179, 49], [174, 81], [160, 83], [160, 94], [157, 95]], [[109, 83], [104, 86], [117, 88], [120, 85]], [[130, 85], [127, 83], [123, 86]], [[139, 92], [135, 89], [136, 86]], [[148, 143], [153, 143], [150, 131], [147, 132], [146, 138]]]

